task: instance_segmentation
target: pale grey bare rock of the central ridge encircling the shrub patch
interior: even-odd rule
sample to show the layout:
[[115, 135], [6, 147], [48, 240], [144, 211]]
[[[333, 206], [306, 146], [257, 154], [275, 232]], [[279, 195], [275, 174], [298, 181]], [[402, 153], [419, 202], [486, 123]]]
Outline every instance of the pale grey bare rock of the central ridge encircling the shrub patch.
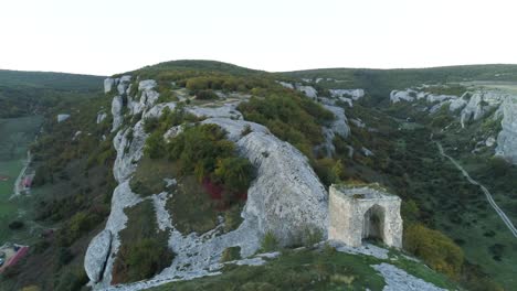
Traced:
[[[154, 89], [154, 80], [140, 80], [138, 90], [134, 90], [136, 94], [131, 96], [130, 86], [134, 85], [129, 84], [130, 80], [130, 76], [105, 80], [106, 93], [116, 88], [112, 115], [113, 130], [117, 131], [113, 140], [117, 151], [114, 175], [119, 184], [113, 194], [106, 227], [91, 241], [85, 257], [86, 273], [94, 289], [107, 288], [112, 282], [113, 266], [120, 247], [119, 233], [128, 220], [124, 209], [145, 200], [152, 201], [158, 228], [169, 234], [169, 248], [177, 254], [170, 267], [154, 278], [158, 281], [209, 274], [221, 268], [219, 260], [228, 247], [239, 246], [241, 256], [250, 257], [258, 249], [265, 233], [274, 234], [282, 245], [299, 241], [309, 233], [326, 237], [327, 193], [307, 159], [293, 146], [274, 137], [267, 128], [243, 120], [235, 109], [235, 101], [217, 107], [187, 106], [186, 110], [207, 118], [203, 123], [223, 128], [240, 154], [255, 166], [256, 179], [249, 188], [241, 214], [243, 223], [230, 233], [223, 233], [224, 222], [202, 235], [182, 234], [176, 229], [172, 216], [165, 207], [170, 193], [156, 193], [143, 198], [129, 187], [148, 138], [144, 131], [145, 119], [160, 116], [165, 108], [173, 109], [176, 103], [156, 104], [159, 94]], [[342, 109], [334, 111], [339, 119], [331, 130], [337, 134], [348, 134]], [[124, 121], [124, 112], [128, 117], [141, 114], [143, 119], [130, 127]], [[251, 133], [243, 136], [245, 128], [250, 128]], [[177, 134], [180, 130], [181, 127], [175, 127], [166, 136]]]

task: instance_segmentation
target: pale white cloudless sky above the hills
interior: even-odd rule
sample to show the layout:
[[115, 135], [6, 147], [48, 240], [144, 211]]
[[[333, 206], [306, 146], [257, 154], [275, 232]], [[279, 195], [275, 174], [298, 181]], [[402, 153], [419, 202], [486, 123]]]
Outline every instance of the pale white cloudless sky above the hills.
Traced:
[[0, 0], [0, 13], [4, 69], [517, 64], [515, 0]]

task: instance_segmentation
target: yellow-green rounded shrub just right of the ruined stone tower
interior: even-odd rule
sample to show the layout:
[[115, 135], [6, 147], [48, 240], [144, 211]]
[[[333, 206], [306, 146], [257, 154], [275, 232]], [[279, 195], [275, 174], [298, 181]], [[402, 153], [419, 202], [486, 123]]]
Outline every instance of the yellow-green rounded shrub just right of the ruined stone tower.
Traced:
[[451, 278], [457, 278], [461, 272], [463, 250], [437, 230], [421, 224], [410, 225], [404, 229], [404, 249]]

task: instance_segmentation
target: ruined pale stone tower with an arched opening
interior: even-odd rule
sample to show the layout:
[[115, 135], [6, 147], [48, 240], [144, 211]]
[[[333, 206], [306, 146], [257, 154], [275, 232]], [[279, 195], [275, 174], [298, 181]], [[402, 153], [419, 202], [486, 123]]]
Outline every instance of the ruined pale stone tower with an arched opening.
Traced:
[[359, 247], [366, 238], [381, 239], [402, 247], [402, 218], [399, 196], [379, 184], [331, 185], [328, 238]]

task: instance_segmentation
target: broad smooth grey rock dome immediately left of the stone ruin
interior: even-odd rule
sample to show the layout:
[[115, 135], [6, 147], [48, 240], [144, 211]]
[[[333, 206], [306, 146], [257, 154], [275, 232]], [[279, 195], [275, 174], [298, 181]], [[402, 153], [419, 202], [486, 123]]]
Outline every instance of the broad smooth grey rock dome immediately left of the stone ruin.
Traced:
[[327, 193], [307, 158], [263, 132], [243, 137], [238, 147], [257, 169], [244, 215], [256, 217], [258, 231], [272, 231], [282, 245], [299, 241], [306, 231], [326, 237]]

